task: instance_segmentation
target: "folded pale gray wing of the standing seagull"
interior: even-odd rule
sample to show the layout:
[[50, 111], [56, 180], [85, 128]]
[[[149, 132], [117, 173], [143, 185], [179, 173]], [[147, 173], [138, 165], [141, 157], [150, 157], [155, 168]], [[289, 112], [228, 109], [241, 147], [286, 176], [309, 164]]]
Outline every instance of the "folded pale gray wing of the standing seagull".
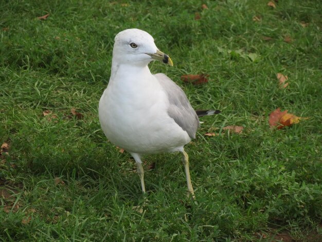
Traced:
[[168, 108], [169, 116], [189, 134], [191, 139], [194, 139], [195, 132], [199, 128], [200, 123], [199, 118], [191, 107], [186, 94], [165, 74], [158, 73], [154, 76], [168, 95], [170, 102], [170, 106]]

